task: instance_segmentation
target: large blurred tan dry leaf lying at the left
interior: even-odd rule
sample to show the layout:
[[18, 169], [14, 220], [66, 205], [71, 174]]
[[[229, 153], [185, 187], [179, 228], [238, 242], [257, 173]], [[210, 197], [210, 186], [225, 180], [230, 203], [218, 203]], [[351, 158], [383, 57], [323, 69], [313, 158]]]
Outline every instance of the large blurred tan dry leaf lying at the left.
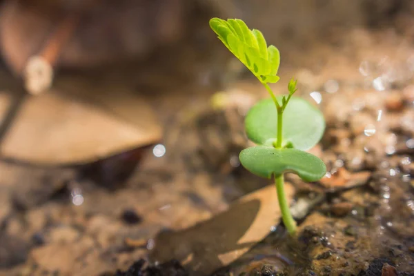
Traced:
[[150, 106], [122, 83], [67, 78], [26, 98], [0, 150], [33, 164], [85, 164], [160, 138]]

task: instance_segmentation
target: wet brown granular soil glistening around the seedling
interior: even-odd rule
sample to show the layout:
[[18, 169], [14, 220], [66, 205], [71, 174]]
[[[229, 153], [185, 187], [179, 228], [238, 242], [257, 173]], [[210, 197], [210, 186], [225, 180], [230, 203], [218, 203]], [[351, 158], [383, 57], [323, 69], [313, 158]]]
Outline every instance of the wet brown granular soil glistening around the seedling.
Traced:
[[[292, 208], [303, 203], [297, 237], [275, 221], [263, 242], [215, 275], [414, 275], [413, 41], [388, 31], [341, 37], [297, 52], [302, 66], [281, 68], [275, 86], [284, 91], [295, 75], [326, 116], [313, 149], [326, 177], [288, 177], [297, 189]], [[246, 108], [266, 91], [237, 83], [218, 110], [203, 83], [180, 91], [154, 96], [153, 106], [168, 110], [160, 112], [165, 152], [149, 148], [123, 186], [108, 189], [73, 168], [1, 162], [0, 275], [194, 275], [185, 264], [141, 259], [168, 247], [168, 231], [268, 184], [237, 159], [248, 145]], [[160, 232], [163, 244], [155, 242]]]

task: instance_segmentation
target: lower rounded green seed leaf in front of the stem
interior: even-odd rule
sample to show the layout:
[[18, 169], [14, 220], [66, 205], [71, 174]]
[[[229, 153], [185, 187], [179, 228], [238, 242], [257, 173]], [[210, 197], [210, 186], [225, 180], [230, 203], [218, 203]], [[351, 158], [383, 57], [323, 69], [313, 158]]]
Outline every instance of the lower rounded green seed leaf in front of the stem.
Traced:
[[255, 146], [240, 152], [240, 162], [248, 171], [259, 177], [278, 177], [294, 172], [304, 181], [313, 182], [326, 174], [324, 162], [311, 153], [295, 148]]

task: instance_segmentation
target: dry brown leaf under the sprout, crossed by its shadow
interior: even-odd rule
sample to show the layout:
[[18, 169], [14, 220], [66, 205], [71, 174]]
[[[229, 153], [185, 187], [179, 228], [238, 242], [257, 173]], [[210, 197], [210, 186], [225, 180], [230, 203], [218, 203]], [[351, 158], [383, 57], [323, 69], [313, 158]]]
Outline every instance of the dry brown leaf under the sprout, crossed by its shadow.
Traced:
[[[285, 185], [291, 201], [294, 189]], [[281, 213], [275, 186], [255, 191], [230, 206], [224, 213], [179, 232], [161, 233], [159, 248], [152, 258], [159, 262], [178, 259], [197, 275], [209, 275], [226, 266], [260, 242], [279, 223]]]

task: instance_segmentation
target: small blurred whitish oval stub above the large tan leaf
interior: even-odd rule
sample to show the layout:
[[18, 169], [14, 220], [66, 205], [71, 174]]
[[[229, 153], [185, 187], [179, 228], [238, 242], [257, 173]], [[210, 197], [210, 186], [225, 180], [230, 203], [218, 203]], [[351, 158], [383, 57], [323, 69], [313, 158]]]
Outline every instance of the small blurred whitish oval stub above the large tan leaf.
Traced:
[[52, 86], [53, 68], [41, 56], [30, 57], [24, 70], [25, 88], [32, 95], [39, 95]]

